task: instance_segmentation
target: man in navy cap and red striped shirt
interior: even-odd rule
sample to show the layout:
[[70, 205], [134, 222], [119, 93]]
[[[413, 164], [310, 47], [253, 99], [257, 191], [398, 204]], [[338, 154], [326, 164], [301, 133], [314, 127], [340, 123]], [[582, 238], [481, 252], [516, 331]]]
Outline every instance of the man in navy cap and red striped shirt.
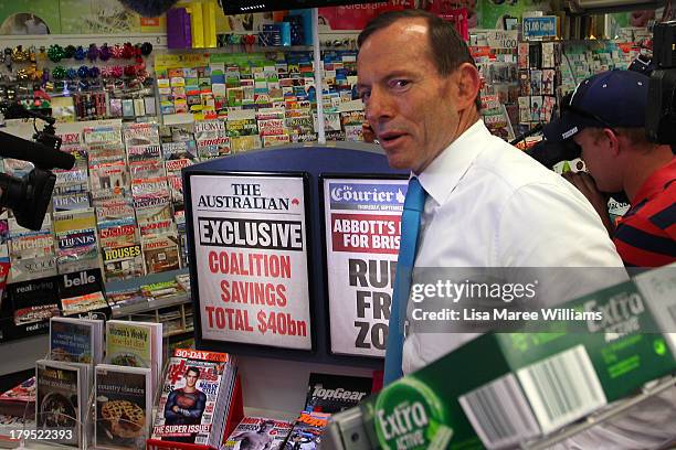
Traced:
[[[547, 140], [573, 139], [581, 147], [589, 175], [566, 176], [594, 205], [622, 260], [633, 267], [676, 261], [676, 159], [669, 146], [646, 138], [648, 81], [629, 71], [594, 75], [580, 83], [560, 118], [545, 128]], [[616, 228], [601, 192], [624, 192], [631, 202]]]

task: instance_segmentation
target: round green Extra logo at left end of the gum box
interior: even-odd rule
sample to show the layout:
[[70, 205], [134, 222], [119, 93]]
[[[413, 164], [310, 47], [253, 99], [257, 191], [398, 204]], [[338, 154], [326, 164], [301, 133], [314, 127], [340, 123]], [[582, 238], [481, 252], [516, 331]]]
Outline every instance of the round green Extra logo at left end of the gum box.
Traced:
[[378, 396], [374, 419], [383, 449], [445, 449], [453, 438], [443, 401], [413, 376], [388, 386]]

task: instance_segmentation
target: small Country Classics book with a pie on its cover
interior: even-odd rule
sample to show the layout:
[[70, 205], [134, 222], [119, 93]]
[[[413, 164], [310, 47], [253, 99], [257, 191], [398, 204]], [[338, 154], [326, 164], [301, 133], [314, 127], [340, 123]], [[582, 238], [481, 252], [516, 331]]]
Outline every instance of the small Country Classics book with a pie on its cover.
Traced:
[[145, 448], [152, 413], [151, 377], [149, 368], [96, 366], [96, 448]]

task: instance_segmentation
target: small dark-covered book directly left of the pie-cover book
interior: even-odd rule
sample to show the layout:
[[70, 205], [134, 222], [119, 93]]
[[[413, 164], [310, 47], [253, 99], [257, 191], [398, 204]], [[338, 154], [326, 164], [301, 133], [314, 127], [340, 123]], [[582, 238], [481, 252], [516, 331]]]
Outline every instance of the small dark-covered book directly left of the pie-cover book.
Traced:
[[86, 383], [87, 375], [80, 365], [35, 362], [35, 426], [54, 433], [52, 443], [82, 448]]

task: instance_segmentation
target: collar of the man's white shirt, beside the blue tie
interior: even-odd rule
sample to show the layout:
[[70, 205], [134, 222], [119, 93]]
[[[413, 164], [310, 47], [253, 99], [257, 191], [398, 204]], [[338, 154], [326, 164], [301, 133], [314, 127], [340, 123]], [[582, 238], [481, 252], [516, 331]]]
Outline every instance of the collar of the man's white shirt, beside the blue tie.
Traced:
[[418, 176], [425, 192], [443, 204], [461, 181], [472, 162], [482, 152], [490, 132], [477, 120], [446, 147]]

